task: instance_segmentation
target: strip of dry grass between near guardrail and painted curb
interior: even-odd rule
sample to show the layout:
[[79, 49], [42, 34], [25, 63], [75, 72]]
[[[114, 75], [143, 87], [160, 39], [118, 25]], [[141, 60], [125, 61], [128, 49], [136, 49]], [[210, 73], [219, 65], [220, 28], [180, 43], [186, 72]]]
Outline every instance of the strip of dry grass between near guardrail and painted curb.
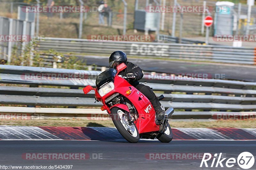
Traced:
[[[217, 121], [170, 121], [174, 128], [256, 128], [255, 120]], [[1, 120], [0, 125], [13, 126], [66, 126], [66, 127], [114, 127], [111, 120], [42, 119], [42, 120]]]

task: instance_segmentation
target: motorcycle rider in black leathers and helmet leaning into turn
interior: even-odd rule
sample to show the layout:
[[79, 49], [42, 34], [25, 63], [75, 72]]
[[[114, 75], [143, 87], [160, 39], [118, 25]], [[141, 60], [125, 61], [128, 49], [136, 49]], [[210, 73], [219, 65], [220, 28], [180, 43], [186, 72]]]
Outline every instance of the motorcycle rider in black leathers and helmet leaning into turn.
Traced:
[[121, 63], [124, 63], [127, 67], [126, 69], [121, 71], [119, 75], [129, 78], [129, 83], [148, 98], [148, 100], [151, 102], [156, 111], [156, 120], [158, 122], [163, 123], [165, 112], [161, 108], [161, 103], [156, 97], [156, 94], [152, 91], [152, 89], [149, 86], [140, 84], [138, 82], [138, 80], [140, 80], [143, 77], [143, 73], [140, 67], [137, 64], [127, 62], [127, 55], [123, 51], [113, 52], [109, 57], [109, 66], [111, 68], [116, 69], [116, 67]]

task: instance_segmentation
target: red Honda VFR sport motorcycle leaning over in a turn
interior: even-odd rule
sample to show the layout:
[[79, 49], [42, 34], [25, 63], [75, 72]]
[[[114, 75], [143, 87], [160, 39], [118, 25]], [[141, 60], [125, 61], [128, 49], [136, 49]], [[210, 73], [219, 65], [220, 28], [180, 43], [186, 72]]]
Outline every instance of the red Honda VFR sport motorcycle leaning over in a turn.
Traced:
[[[107, 110], [119, 133], [131, 143], [138, 142], [139, 138], [154, 139], [161, 142], [172, 141], [172, 129], [168, 118], [174, 112], [173, 108], [165, 111], [164, 123], [156, 123], [155, 110], [146, 96], [129, 84], [126, 77], [118, 74], [124, 70], [124, 63], [116, 69], [102, 72], [96, 79], [96, 88], [86, 86], [83, 91], [87, 94], [95, 91], [96, 101], [101, 101], [101, 110]], [[159, 100], [164, 99], [161, 95]], [[96, 102], [95, 101], [95, 102]]]

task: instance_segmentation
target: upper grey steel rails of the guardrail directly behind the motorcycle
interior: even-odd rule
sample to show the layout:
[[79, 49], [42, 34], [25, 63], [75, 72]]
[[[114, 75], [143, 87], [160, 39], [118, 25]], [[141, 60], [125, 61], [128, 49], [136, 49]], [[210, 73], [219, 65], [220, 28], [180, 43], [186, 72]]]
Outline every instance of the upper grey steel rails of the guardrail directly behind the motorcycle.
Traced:
[[[100, 102], [94, 103], [94, 92], [84, 95], [81, 88], [95, 86], [99, 74], [100, 71], [0, 65], [0, 83], [30, 86], [1, 86], [0, 104], [100, 107]], [[64, 75], [67, 78], [63, 78]], [[140, 82], [153, 87], [158, 96], [164, 92], [165, 99], [161, 103], [166, 108], [207, 112], [256, 111], [256, 83], [200, 78], [156, 80], [150, 77], [145, 75]], [[203, 112], [196, 114], [200, 113]]]

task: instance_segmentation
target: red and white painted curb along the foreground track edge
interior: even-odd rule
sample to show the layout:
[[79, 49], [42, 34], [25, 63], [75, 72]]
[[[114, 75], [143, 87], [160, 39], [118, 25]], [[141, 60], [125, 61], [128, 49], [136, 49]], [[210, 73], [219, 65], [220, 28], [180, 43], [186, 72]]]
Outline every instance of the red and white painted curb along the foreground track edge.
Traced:
[[[256, 129], [172, 128], [173, 140], [256, 140]], [[124, 140], [116, 128], [0, 126], [0, 140]]]

